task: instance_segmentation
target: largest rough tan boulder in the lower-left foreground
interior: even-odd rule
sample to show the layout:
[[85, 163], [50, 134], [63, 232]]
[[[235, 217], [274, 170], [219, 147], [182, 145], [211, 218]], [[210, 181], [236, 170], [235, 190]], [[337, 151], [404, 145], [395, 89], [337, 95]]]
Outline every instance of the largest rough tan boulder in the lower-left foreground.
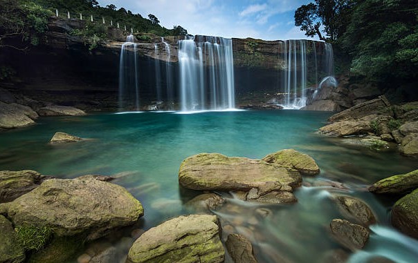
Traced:
[[96, 240], [134, 224], [143, 207], [125, 188], [87, 177], [49, 179], [15, 201], [3, 204], [15, 226], [48, 226], [58, 237]]

